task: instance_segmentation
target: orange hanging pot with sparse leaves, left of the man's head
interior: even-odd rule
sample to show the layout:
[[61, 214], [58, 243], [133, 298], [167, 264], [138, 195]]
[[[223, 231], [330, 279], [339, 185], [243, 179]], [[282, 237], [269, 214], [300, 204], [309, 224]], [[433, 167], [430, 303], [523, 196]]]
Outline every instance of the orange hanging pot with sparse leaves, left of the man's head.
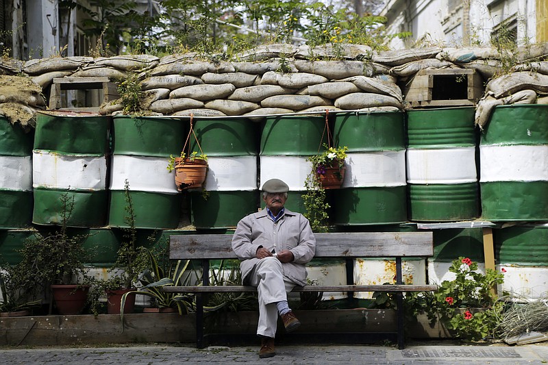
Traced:
[[208, 171], [208, 156], [193, 151], [189, 156], [182, 152], [178, 158], [170, 155], [168, 171], [175, 170], [175, 185], [177, 190], [201, 188]]

